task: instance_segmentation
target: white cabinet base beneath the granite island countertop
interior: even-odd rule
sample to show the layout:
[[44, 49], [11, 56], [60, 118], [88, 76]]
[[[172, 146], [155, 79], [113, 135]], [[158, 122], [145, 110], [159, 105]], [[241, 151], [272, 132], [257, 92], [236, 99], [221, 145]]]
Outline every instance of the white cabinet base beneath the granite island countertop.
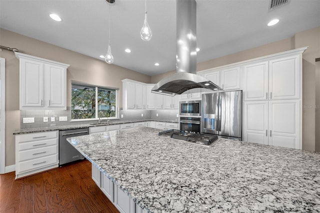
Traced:
[[146, 212], [138, 206], [125, 192], [111, 181], [94, 164], [91, 164], [92, 179], [101, 189], [105, 196], [121, 213], [144, 213]]

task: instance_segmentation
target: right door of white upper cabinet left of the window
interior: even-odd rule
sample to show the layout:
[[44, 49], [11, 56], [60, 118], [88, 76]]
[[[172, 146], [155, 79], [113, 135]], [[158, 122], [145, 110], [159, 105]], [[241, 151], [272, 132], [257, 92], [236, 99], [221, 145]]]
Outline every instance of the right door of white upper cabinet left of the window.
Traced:
[[45, 65], [48, 107], [66, 107], [66, 69], [51, 64]]

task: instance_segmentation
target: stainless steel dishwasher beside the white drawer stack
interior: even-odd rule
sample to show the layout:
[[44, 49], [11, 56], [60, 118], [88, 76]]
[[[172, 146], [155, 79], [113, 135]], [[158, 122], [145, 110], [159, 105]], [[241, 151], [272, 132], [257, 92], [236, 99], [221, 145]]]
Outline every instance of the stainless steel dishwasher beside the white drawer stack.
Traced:
[[67, 140], [67, 137], [75, 137], [89, 134], [89, 128], [77, 128], [59, 131], [59, 165], [84, 159], [84, 156], [76, 150]]

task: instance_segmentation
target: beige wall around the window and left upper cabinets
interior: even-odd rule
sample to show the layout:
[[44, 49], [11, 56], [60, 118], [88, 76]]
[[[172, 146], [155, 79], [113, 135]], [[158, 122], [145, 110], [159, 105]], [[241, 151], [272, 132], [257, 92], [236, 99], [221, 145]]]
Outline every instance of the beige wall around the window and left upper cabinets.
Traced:
[[[83, 81], [101, 86], [120, 88], [119, 106], [122, 107], [122, 82], [124, 78], [150, 83], [151, 77], [102, 60], [85, 56], [49, 43], [0, 29], [0, 44], [14, 47], [22, 53], [70, 64], [67, 68], [67, 106], [71, 105], [71, 80]], [[5, 58], [5, 165], [15, 163], [14, 136], [20, 128], [19, 111], [19, 60], [12, 51], [0, 51]]]

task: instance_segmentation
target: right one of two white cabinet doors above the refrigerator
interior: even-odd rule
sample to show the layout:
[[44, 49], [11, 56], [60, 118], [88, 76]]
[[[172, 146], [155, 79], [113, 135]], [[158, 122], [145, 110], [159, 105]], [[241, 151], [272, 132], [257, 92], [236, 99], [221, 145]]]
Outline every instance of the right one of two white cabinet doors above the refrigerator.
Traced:
[[240, 67], [221, 70], [220, 84], [223, 90], [240, 89]]

